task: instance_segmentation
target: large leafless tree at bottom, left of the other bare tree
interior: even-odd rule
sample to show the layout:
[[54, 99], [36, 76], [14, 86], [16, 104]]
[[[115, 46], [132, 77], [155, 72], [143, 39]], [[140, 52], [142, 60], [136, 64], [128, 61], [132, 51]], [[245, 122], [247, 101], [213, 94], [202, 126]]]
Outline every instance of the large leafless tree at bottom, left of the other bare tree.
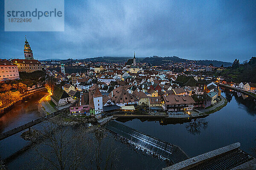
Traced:
[[82, 138], [81, 134], [70, 133], [70, 127], [63, 125], [61, 121], [58, 125], [50, 122], [44, 124], [45, 141], [40, 148], [36, 148], [36, 153], [46, 164], [49, 164], [50, 169], [81, 169], [87, 157], [84, 149], [87, 144], [86, 139]]

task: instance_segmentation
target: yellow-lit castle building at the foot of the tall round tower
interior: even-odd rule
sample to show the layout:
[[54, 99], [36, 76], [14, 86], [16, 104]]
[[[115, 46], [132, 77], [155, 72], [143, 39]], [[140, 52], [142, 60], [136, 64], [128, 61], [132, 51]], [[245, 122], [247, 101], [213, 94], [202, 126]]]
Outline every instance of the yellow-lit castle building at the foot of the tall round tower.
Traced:
[[13, 59], [12, 63], [18, 66], [19, 72], [42, 71], [41, 63], [38, 60]]

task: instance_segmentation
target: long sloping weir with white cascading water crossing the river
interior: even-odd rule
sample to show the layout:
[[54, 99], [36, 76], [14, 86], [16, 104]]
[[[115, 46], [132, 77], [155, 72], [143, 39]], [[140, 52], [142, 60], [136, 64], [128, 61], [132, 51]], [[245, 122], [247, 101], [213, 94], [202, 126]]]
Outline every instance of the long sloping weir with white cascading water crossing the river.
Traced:
[[106, 126], [108, 130], [123, 136], [134, 144], [145, 148], [153, 153], [156, 153], [164, 158], [168, 158], [174, 164], [184, 161], [189, 157], [174, 144], [170, 144], [166, 141], [160, 140], [153, 136], [142, 133], [138, 130], [135, 130], [131, 127], [127, 127], [123, 124], [120, 124], [116, 121], [109, 121]]

